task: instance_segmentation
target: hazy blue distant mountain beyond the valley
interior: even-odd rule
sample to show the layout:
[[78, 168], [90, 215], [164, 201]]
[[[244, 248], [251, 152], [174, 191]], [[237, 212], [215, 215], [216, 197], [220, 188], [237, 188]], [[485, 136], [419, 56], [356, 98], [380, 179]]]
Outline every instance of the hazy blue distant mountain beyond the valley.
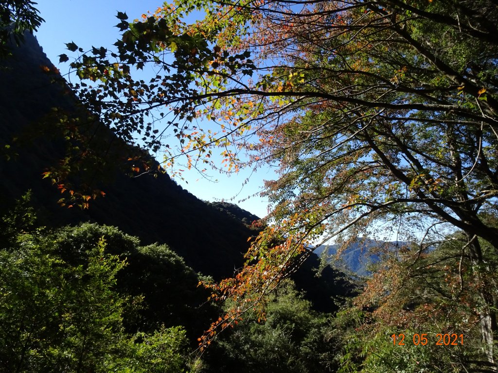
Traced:
[[368, 277], [372, 275], [367, 267], [370, 264], [375, 264], [380, 261], [379, 255], [376, 254], [374, 248], [384, 248], [389, 251], [395, 251], [407, 242], [386, 242], [377, 241], [370, 238], [358, 238], [350, 244], [337, 258], [337, 251], [341, 245], [321, 245], [315, 249], [314, 253], [325, 258], [328, 263], [334, 267], [345, 269], [347, 272], [358, 275], [360, 277]]

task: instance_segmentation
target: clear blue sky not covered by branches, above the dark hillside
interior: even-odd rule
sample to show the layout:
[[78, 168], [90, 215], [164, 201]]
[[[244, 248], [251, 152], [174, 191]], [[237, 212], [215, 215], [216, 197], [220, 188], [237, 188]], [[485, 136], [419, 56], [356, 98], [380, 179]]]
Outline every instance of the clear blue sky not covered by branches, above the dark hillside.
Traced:
[[[135, 19], [147, 10], [154, 11], [160, 5], [162, 5], [160, 0], [38, 0], [36, 7], [45, 22], [36, 33], [36, 37], [48, 58], [64, 74], [68, 70], [68, 65], [59, 66], [58, 55], [62, 53], [70, 55], [65, 43], [74, 41], [84, 50], [92, 46], [111, 47], [119, 37], [119, 30], [114, 27], [119, 23], [116, 18], [118, 11], [126, 12], [129, 19]], [[162, 157], [158, 160], [162, 161]], [[259, 217], [266, 215], [267, 200], [253, 196], [245, 201], [239, 201], [260, 190], [263, 180], [274, 179], [273, 171], [258, 170], [254, 174], [252, 170], [243, 170], [230, 177], [218, 174], [216, 171], [209, 171], [208, 174], [218, 182], [207, 181], [197, 171], [185, 171], [183, 177], [188, 184], [179, 179], [176, 181], [201, 199], [208, 201], [224, 199], [237, 203]], [[249, 182], [245, 184], [247, 178]]]

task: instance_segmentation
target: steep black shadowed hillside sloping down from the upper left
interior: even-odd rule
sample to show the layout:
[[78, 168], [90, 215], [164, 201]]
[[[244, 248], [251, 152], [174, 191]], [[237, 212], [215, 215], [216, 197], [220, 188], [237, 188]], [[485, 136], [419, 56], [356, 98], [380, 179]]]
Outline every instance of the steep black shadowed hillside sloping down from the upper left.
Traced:
[[[257, 216], [231, 203], [204, 202], [167, 174], [130, 178], [113, 160], [127, 159], [141, 151], [98, 125], [90, 126], [95, 131], [94, 147], [105, 147], [103, 157], [111, 161], [96, 165], [93, 177], [106, 195], [92, 201], [89, 209], [59, 206], [61, 194], [48, 179], [42, 179], [42, 173], [60, 162], [67, 144], [60, 141], [60, 134], [44, 118], [54, 107], [80, 116], [84, 108], [68, 92], [64, 81], [53, 82], [54, 78], [61, 80], [58, 75], [46, 72], [46, 67], [54, 68], [34, 36], [26, 34], [25, 43], [0, 65], [1, 210], [6, 211], [14, 199], [30, 189], [32, 203], [44, 225], [89, 221], [117, 226], [139, 237], [142, 245], [166, 243], [188, 266], [215, 279], [230, 277], [242, 266], [248, 238], [257, 235], [250, 228]], [[150, 157], [149, 160], [154, 164]], [[338, 273], [331, 268], [315, 276], [318, 267], [319, 258], [312, 255], [293, 277], [318, 309], [330, 312], [336, 309], [333, 297], [345, 295], [350, 288], [338, 280]]]

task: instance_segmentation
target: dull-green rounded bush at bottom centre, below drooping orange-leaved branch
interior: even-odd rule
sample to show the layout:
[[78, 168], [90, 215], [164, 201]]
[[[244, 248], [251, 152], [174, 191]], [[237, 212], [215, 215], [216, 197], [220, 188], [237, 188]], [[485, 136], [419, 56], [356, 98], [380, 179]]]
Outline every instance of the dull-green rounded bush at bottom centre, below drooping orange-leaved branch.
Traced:
[[213, 372], [335, 372], [324, 334], [329, 315], [314, 312], [292, 281], [268, 296], [265, 311], [265, 320], [245, 315], [213, 351], [208, 349]]

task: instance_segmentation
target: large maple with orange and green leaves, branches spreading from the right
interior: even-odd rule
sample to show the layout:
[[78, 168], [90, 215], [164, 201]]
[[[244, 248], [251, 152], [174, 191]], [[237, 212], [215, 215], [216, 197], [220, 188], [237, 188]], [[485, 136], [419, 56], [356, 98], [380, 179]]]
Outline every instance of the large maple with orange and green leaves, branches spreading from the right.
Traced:
[[380, 224], [421, 230], [408, 256], [418, 260], [441, 226], [461, 233], [496, 365], [496, 277], [483, 252], [498, 250], [495, 1], [187, 0], [132, 22], [117, 17], [114, 50], [67, 44], [79, 51], [73, 88], [101, 123], [163, 150], [173, 173], [182, 157], [188, 168], [213, 165], [216, 150], [227, 172], [279, 171], [265, 189], [271, 224], [245, 268], [211, 285], [214, 298], [237, 305], [201, 343], [256, 305], [319, 237]]

